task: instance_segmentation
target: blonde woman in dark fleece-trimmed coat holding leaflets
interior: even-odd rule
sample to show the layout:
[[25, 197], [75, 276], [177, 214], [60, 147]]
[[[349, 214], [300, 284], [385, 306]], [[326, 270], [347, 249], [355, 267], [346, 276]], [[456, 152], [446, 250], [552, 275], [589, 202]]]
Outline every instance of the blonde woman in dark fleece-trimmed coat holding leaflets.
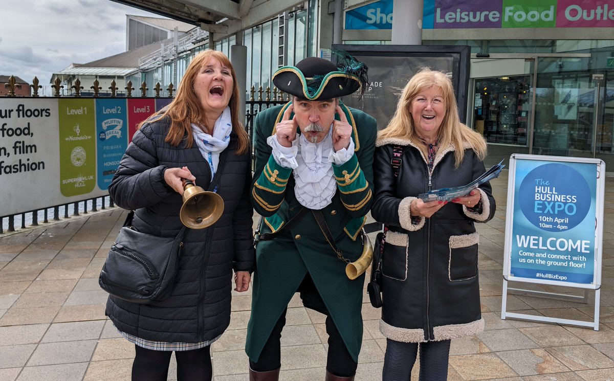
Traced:
[[387, 229], [383, 380], [410, 380], [418, 349], [420, 380], [446, 380], [450, 339], [484, 328], [474, 223], [493, 217], [495, 200], [489, 183], [450, 202], [417, 196], [483, 174], [486, 142], [460, 122], [446, 74], [422, 69], [403, 89], [376, 145], [371, 214]]

